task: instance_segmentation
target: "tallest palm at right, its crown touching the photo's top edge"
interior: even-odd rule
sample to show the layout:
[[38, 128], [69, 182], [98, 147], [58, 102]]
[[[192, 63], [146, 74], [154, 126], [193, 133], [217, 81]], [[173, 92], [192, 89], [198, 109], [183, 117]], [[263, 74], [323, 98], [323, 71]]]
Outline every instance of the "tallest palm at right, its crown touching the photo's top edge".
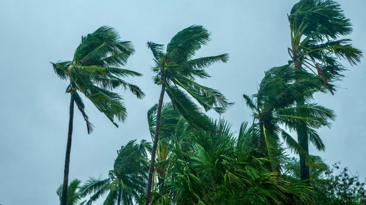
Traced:
[[[360, 63], [362, 52], [352, 46], [351, 39], [339, 39], [352, 32], [350, 19], [346, 18], [340, 4], [333, 0], [300, 0], [288, 15], [291, 31], [291, 48], [288, 53], [295, 69], [308, 69], [323, 82], [333, 95], [342, 71], [346, 68], [339, 60], [351, 65]], [[299, 98], [297, 105], [304, 104]], [[298, 142], [309, 152], [306, 129], [298, 129]], [[300, 155], [301, 180], [310, 178], [309, 167]]]

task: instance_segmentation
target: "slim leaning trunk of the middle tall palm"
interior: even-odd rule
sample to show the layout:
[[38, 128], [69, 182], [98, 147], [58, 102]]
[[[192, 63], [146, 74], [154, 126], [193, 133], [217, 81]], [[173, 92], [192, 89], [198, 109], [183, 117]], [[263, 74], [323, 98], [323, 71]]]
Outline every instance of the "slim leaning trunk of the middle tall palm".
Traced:
[[159, 97], [159, 103], [157, 106], [157, 113], [156, 113], [156, 125], [155, 125], [155, 136], [154, 142], [152, 144], [151, 149], [151, 160], [150, 160], [150, 168], [149, 168], [149, 177], [147, 179], [147, 188], [146, 188], [146, 196], [145, 196], [145, 204], [150, 204], [150, 195], [151, 195], [151, 186], [152, 186], [152, 175], [154, 172], [154, 164], [155, 164], [155, 153], [156, 153], [156, 146], [157, 142], [159, 141], [159, 127], [160, 127], [160, 116], [161, 116], [161, 107], [163, 105], [163, 98], [165, 93], [165, 84], [161, 85], [161, 92]]

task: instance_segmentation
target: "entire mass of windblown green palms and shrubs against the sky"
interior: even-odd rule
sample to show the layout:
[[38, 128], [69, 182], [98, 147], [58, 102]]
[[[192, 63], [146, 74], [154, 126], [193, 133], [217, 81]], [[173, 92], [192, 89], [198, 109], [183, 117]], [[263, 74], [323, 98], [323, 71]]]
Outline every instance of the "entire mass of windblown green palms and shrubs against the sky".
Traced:
[[[52, 63], [57, 76], [69, 81], [71, 99], [64, 182], [56, 191], [61, 205], [366, 204], [366, 181], [340, 163], [331, 167], [309, 153], [309, 143], [325, 151], [317, 130], [331, 128], [336, 120], [336, 113], [316, 103], [314, 94], [334, 94], [335, 82], [347, 70], [340, 60], [356, 65], [362, 57], [350, 39], [339, 39], [352, 32], [350, 20], [333, 0], [300, 0], [288, 20], [291, 60], [268, 69], [255, 94], [241, 94], [244, 100], [237, 103], [252, 111], [252, 123], [241, 122], [239, 130], [221, 117], [234, 103], [197, 82], [210, 77], [206, 69], [211, 65], [229, 60], [229, 54], [196, 57], [211, 40], [206, 28], [189, 26], [166, 47], [147, 42], [152, 80], [160, 86], [158, 103], [147, 111], [151, 142], [127, 142], [106, 177], [69, 184], [75, 103], [88, 133], [94, 128], [79, 94], [116, 126], [115, 118], [126, 119], [126, 108], [115, 90], [121, 87], [139, 99], [145, 95], [121, 79], [141, 76], [120, 68], [134, 53], [129, 41], [120, 40], [109, 26], [83, 36], [72, 61]], [[220, 119], [210, 118], [209, 110]]]

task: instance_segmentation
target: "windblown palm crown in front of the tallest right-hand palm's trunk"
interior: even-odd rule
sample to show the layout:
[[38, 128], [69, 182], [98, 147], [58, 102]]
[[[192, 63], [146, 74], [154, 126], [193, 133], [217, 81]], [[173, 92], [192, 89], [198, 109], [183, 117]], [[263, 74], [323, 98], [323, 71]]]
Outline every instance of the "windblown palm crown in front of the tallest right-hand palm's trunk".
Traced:
[[322, 86], [316, 77], [285, 65], [265, 72], [257, 94], [252, 97], [243, 95], [246, 104], [253, 111], [255, 121], [251, 135], [254, 139], [251, 141], [257, 144], [260, 157], [265, 153], [269, 158], [273, 172], [280, 171], [280, 138], [291, 151], [303, 155], [307, 164], [314, 164], [309, 154], [280, 125], [294, 131], [305, 124], [310, 141], [318, 150], [325, 150], [323, 141], [315, 129], [329, 127], [327, 120], [335, 119], [334, 111], [315, 103], [295, 106], [296, 99], [303, 97], [310, 101], [312, 94], [320, 89]]

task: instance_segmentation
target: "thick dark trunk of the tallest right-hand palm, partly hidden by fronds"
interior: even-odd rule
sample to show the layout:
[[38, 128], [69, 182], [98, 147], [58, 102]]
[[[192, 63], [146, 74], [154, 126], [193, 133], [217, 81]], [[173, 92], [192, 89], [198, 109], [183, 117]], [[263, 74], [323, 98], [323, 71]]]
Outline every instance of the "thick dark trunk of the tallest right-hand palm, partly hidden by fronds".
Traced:
[[[301, 60], [298, 57], [294, 58], [294, 66], [295, 69], [301, 69]], [[296, 101], [296, 106], [302, 106], [304, 104], [305, 104], [304, 97], [301, 97]], [[306, 129], [298, 128], [296, 132], [297, 132], [297, 142], [306, 151], [306, 153], [309, 153], [309, 141]], [[309, 180], [310, 170], [309, 167], [305, 164], [305, 156], [300, 154], [299, 158], [300, 158], [300, 180], [301, 181]], [[307, 184], [310, 185], [310, 182], [308, 181]]]

